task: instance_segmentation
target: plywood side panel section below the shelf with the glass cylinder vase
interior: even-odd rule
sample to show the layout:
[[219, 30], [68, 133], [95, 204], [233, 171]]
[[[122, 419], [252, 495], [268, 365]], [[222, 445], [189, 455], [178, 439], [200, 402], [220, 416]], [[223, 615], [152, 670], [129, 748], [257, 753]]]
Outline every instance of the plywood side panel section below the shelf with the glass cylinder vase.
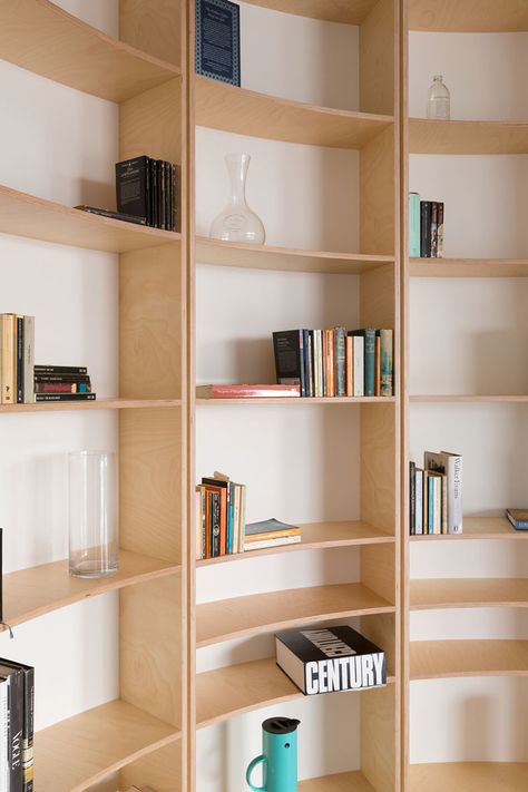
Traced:
[[119, 615], [121, 698], [180, 729], [180, 575], [123, 589]]

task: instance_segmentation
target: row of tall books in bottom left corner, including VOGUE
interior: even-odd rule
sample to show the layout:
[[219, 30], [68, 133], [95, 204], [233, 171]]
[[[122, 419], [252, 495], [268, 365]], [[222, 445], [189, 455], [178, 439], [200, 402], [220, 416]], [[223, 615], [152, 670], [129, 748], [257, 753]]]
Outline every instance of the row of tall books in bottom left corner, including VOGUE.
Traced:
[[35, 669], [0, 658], [0, 792], [33, 792]]

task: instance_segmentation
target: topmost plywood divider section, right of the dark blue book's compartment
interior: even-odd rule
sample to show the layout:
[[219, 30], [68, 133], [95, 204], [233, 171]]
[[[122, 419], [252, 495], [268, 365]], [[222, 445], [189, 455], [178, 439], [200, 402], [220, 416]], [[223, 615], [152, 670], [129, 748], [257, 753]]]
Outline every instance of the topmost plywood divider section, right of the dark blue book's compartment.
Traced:
[[360, 26], [360, 109], [394, 113], [397, 0], [379, 0]]

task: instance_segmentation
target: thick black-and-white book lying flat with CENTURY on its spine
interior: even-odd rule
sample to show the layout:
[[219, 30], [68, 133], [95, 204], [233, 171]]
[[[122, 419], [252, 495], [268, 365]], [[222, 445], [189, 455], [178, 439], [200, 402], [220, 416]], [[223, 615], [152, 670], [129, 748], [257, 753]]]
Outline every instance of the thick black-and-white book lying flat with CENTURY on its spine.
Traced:
[[387, 684], [384, 652], [352, 627], [284, 630], [275, 648], [277, 665], [305, 696]]

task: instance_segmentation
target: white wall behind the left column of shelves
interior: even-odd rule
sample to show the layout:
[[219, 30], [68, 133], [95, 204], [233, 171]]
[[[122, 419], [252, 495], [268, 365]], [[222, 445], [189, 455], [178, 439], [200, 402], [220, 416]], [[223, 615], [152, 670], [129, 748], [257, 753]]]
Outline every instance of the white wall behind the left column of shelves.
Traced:
[[[60, 2], [107, 32], [117, 3]], [[0, 61], [0, 183], [65, 205], [114, 201], [117, 106]], [[99, 397], [117, 391], [117, 257], [0, 235], [0, 313], [37, 317], [38, 363], [88, 365]], [[65, 456], [116, 450], [108, 412], [0, 420], [4, 571], [66, 557]], [[0, 655], [36, 665], [41, 729], [118, 695], [117, 597], [29, 622]]]

